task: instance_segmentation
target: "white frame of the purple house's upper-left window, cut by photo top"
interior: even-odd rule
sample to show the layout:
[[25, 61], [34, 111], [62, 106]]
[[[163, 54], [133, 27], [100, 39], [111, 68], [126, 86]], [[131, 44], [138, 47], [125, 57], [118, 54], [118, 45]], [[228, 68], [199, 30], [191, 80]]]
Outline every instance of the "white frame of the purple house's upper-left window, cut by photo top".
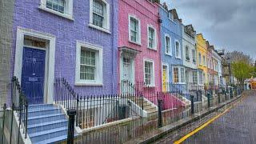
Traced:
[[70, 19], [72, 21], [74, 20], [74, 18], [73, 18], [73, 0], [65, 0], [65, 6], [64, 6], [64, 13], [63, 14], [58, 12], [58, 11], [51, 10], [51, 9], [47, 8], [46, 7], [46, 1], [47, 0], [41, 0], [40, 6], [38, 7], [40, 10], [45, 10], [49, 13], [56, 14], [58, 16]]

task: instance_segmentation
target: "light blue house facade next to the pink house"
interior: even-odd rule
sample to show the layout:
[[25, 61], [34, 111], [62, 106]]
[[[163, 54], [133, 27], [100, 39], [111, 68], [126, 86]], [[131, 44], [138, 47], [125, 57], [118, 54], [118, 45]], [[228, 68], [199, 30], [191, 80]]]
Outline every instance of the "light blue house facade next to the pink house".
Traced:
[[185, 68], [182, 52], [182, 20], [176, 10], [168, 10], [160, 6], [161, 58], [162, 58], [162, 90], [169, 89], [169, 82], [185, 84]]

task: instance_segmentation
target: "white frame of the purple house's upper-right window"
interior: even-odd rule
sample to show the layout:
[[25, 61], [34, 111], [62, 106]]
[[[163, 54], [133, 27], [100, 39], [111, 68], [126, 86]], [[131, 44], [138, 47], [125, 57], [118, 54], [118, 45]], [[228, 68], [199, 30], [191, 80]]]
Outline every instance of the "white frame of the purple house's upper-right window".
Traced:
[[90, 26], [94, 29], [97, 29], [97, 30], [102, 30], [103, 32], [106, 32], [108, 34], [111, 34], [110, 33], [110, 4], [108, 2], [106, 2], [106, 0], [99, 0], [99, 1], [102, 1], [103, 3], [106, 4], [106, 8], [105, 8], [106, 18], [104, 18], [105, 20], [103, 22], [103, 26], [100, 27], [100, 26], [95, 26], [93, 24], [94, 0], [90, 0], [90, 22], [89, 22], [88, 26]]

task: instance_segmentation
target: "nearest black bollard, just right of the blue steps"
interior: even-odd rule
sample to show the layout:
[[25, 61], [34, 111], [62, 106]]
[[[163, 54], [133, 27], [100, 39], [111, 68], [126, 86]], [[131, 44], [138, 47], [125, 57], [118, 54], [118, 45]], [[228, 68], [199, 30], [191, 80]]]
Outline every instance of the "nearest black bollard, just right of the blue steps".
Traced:
[[74, 116], [77, 111], [74, 109], [67, 110], [67, 115], [69, 116], [68, 132], [67, 132], [67, 143], [74, 144]]

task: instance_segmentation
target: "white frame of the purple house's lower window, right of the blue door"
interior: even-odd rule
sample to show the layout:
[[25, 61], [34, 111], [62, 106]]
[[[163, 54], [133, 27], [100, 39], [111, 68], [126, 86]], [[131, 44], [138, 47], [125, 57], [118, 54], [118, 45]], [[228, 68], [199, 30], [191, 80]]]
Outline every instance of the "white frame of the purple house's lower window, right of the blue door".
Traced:
[[[81, 48], [85, 47], [91, 50], [97, 50], [98, 51], [98, 62], [96, 62], [96, 76], [95, 80], [82, 80], [80, 79], [80, 58], [81, 58]], [[97, 46], [91, 43], [87, 42], [80, 42], [77, 41], [77, 47], [76, 47], [76, 68], [75, 68], [75, 86], [103, 86], [103, 66], [102, 66], [102, 60], [103, 60], [103, 49], [102, 46]]]

